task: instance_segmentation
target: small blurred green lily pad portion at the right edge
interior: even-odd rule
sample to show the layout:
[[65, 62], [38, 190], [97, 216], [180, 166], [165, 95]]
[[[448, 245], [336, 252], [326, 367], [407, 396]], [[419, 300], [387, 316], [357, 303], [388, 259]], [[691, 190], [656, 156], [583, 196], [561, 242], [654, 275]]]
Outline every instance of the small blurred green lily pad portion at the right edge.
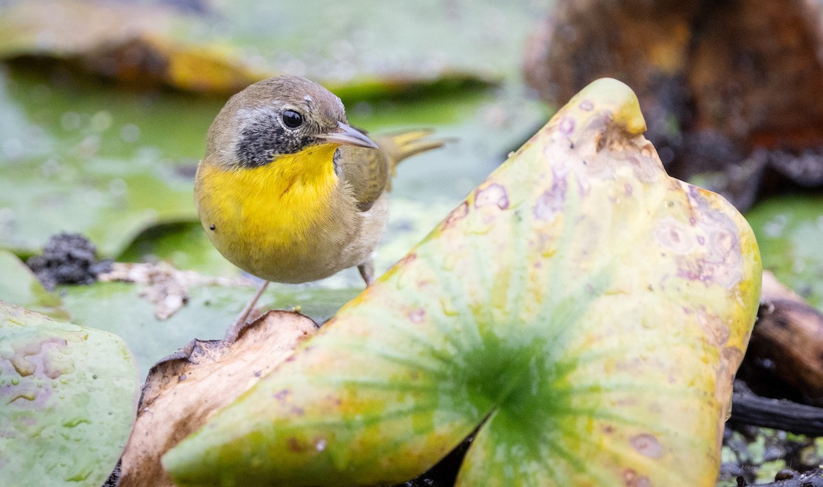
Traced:
[[763, 253], [763, 267], [823, 310], [823, 198], [774, 197], [748, 214]]

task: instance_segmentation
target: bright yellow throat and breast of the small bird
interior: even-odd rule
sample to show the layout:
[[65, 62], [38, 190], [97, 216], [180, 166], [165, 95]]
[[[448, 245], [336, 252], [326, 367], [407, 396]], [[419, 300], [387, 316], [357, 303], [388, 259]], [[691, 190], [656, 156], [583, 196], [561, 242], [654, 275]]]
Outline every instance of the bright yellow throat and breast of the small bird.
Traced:
[[203, 160], [194, 194], [212, 243], [236, 266], [264, 279], [279, 280], [278, 266], [294, 273], [288, 267], [312, 257], [316, 229], [332, 218], [336, 148], [312, 146], [249, 169]]

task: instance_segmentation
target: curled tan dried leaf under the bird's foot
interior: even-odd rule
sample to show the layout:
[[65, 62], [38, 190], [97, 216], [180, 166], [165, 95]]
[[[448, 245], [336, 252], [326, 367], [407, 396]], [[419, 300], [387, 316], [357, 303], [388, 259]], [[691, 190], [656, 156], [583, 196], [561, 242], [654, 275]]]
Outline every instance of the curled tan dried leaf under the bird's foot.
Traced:
[[271, 311], [241, 330], [233, 344], [193, 340], [160, 360], [143, 386], [119, 485], [173, 486], [160, 457], [257, 383], [316, 329], [314, 321], [299, 313]]

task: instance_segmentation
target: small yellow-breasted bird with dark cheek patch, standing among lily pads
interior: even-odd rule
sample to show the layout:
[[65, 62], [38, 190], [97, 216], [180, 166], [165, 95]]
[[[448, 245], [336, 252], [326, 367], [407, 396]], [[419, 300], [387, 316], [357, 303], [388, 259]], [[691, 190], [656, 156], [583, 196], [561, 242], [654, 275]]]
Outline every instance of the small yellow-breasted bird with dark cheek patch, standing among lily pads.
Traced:
[[443, 145], [428, 134], [373, 141], [351, 128], [337, 96], [301, 77], [272, 77], [230, 98], [209, 128], [194, 200], [217, 250], [265, 282], [228, 336], [269, 281], [316, 281], [356, 266], [371, 284], [394, 169]]

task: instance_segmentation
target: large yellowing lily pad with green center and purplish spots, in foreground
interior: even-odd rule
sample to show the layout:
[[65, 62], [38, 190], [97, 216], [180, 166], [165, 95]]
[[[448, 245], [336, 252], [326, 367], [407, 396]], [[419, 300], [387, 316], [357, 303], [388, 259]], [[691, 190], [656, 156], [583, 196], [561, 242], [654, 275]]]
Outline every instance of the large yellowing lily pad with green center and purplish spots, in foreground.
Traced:
[[[178, 485], [713, 485], [760, 296], [746, 220], [595, 81], [402, 262], [166, 453]], [[479, 429], [478, 429], [479, 428]]]

